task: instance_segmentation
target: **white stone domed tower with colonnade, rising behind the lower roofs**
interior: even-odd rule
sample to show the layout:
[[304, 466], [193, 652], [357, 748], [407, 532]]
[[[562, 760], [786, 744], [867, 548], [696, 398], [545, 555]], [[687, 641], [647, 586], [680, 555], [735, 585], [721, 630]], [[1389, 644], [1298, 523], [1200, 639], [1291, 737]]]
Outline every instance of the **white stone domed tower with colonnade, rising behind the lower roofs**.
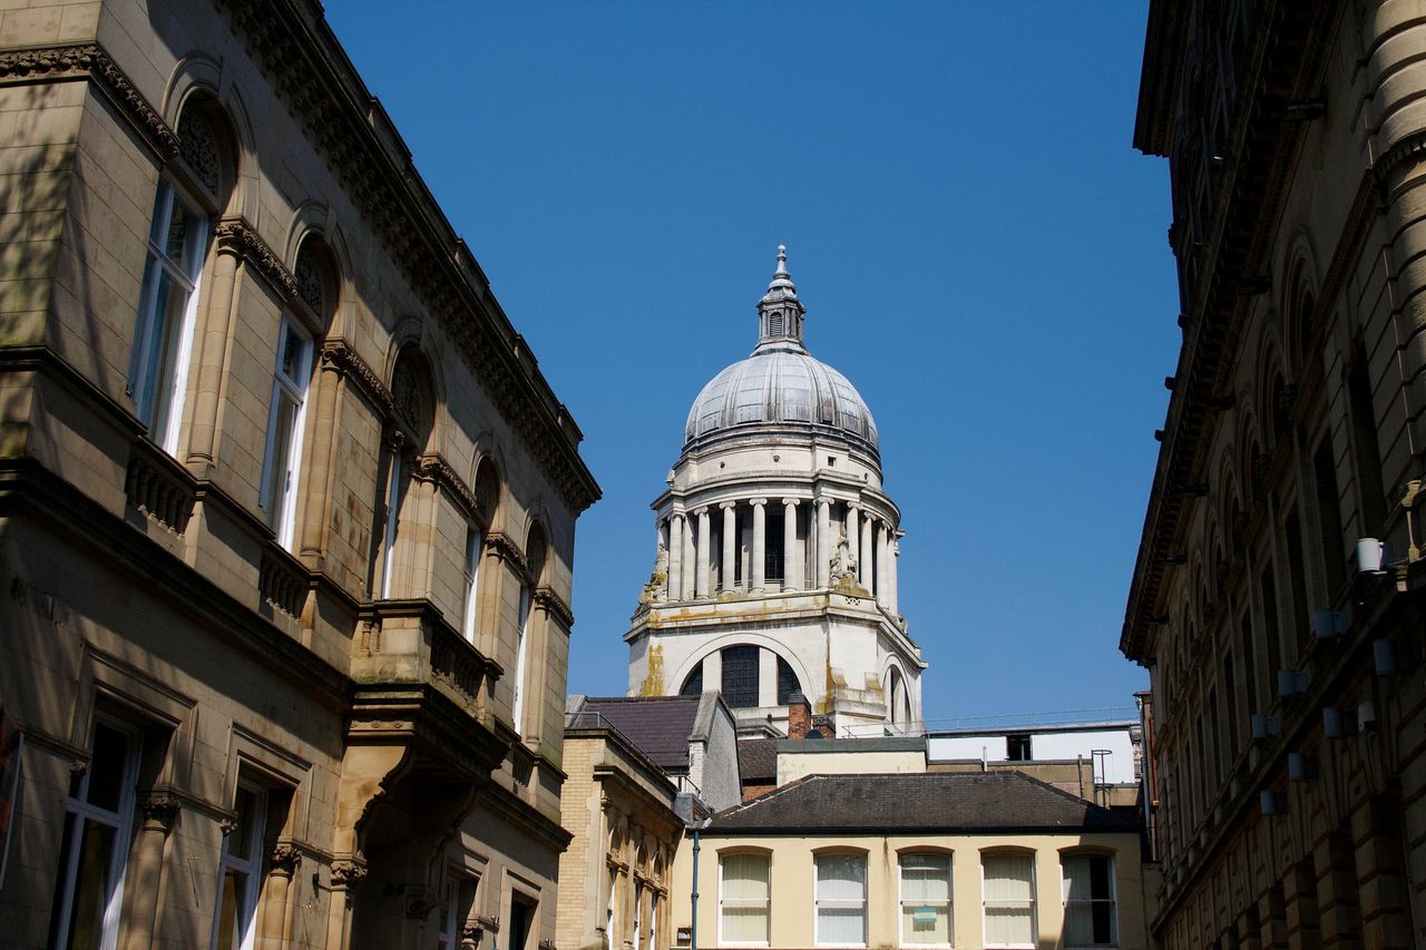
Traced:
[[744, 735], [786, 735], [801, 692], [837, 735], [920, 729], [921, 650], [897, 612], [901, 512], [871, 411], [807, 352], [786, 248], [757, 347], [703, 387], [653, 502], [657, 553], [629, 693], [720, 689]]

